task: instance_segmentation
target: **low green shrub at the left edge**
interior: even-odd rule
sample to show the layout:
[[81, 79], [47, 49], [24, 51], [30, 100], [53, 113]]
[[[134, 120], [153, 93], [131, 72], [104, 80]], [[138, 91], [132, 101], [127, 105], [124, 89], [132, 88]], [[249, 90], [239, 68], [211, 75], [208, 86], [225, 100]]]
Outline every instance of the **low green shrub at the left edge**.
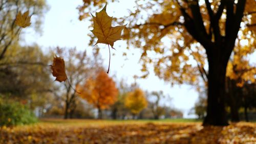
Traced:
[[0, 101], [0, 126], [26, 125], [37, 122], [27, 106], [18, 102]]

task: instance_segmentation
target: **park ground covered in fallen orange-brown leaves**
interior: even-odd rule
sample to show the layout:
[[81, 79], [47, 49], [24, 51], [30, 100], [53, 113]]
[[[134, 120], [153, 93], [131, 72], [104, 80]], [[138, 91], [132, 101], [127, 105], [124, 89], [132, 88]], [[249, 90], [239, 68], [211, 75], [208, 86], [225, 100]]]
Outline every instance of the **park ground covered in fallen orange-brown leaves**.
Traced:
[[45, 119], [0, 128], [0, 143], [256, 143], [256, 123], [203, 127], [200, 122]]

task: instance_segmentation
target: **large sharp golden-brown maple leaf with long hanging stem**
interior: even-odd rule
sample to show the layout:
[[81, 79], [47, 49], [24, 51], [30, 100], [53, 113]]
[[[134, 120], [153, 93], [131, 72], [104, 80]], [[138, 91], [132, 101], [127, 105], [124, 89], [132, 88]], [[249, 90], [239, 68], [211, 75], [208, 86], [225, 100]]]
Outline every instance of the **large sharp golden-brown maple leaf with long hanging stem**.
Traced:
[[[106, 5], [105, 5], [105, 7], [100, 12], [96, 12], [96, 16], [93, 16], [92, 33], [98, 38], [96, 44], [105, 43], [105, 44], [111, 45], [112, 49], [114, 49], [113, 47], [114, 42], [121, 39], [121, 32], [126, 25], [112, 27], [111, 26], [112, 20], [113, 20], [113, 17], [110, 17], [106, 13]], [[110, 48], [109, 48], [109, 53], [110, 53]], [[106, 73], [109, 73], [109, 69], [110, 69], [110, 59], [109, 59], [108, 72]]]

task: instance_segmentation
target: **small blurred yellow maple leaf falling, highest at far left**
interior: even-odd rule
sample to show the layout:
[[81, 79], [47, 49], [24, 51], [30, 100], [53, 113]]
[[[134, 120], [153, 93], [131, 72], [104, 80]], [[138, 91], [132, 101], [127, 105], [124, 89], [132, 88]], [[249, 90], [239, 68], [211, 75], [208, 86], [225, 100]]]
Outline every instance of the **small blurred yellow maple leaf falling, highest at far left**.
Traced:
[[16, 16], [15, 23], [19, 27], [26, 28], [31, 25], [30, 18], [31, 16], [29, 16], [29, 11], [26, 11], [24, 14], [19, 11]]

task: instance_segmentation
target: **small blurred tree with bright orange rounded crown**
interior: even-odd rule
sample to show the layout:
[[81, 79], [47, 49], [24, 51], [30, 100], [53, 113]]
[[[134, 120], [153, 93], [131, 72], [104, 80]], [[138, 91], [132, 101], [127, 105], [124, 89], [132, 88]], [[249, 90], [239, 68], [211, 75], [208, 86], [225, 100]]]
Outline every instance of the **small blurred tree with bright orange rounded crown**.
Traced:
[[95, 78], [90, 77], [83, 86], [77, 87], [82, 99], [98, 109], [98, 118], [102, 118], [102, 109], [109, 108], [117, 100], [118, 90], [115, 82], [105, 71], [100, 70]]

